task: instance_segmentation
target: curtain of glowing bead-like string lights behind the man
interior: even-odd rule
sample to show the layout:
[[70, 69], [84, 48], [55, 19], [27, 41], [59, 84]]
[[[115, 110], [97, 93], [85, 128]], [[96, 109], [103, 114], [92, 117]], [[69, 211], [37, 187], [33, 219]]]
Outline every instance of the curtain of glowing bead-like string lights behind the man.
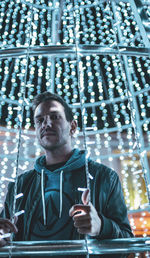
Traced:
[[[28, 4], [30, 1], [27, 1]], [[33, 9], [32, 20], [32, 46], [45, 46], [52, 44], [52, 1], [38, 1], [37, 8]], [[59, 13], [59, 1], [56, 1], [56, 12]], [[114, 10], [106, 1], [78, 1], [79, 13], [79, 44], [93, 46], [109, 46], [115, 48], [115, 32], [121, 31], [123, 50], [127, 47], [144, 47], [140, 28], [135, 20], [130, 3], [115, 3]], [[76, 9], [77, 9], [76, 7]], [[70, 0], [65, 1], [62, 12], [61, 31], [56, 44], [75, 44], [73, 12], [75, 9]], [[147, 12], [148, 12], [147, 8]], [[117, 19], [114, 27], [111, 26], [110, 11], [115, 12]], [[31, 9], [22, 1], [5, 1], [1, 4], [0, 35], [1, 49], [28, 46]], [[19, 16], [20, 15], [20, 16]], [[18, 18], [20, 17], [20, 18]], [[4, 22], [5, 21], [5, 22]], [[10, 23], [11, 21], [11, 23]], [[12, 24], [12, 26], [10, 26]], [[119, 29], [118, 29], [119, 28]], [[139, 152], [132, 130], [130, 110], [127, 104], [127, 90], [124, 84], [120, 59], [117, 55], [91, 55], [80, 56], [84, 69], [84, 124], [87, 133], [88, 152], [98, 162], [106, 162], [114, 169], [115, 161], [120, 160], [122, 185], [125, 200], [129, 209], [138, 209], [147, 203], [147, 194], [139, 163]], [[147, 57], [127, 57], [129, 72], [132, 79], [135, 98], [138, 101], [141, 126], [143, 128], [146, 155], [150, 150], [150, 107], [149, 74], [150, 60]], [[22, 104], [22, 86], [24, 83], [26, 58], [8, 58], [0, 60], [0, 128], [2, 137], [2, 155], [0, 156], [1, 177], [15, 178], [19, 128], [20, 106]], [[23, 116], [24, 134], [29, 139], [22, 138], [23, 159], [20, 161], [19, 173], [31, 168], [34, 159], [43, 154], [33, 133], [33, 120], [31, 116], [31, 101], [33, 97], [44, 90], [53, 90], [71, 104], [78, 121], [78, 129], [74, 139], [74, 146], [83, 145], [81, 137], [81, 110], [79, 103], [79, 89], [77, 80], [77, 61], [74, 55], [57, 56], [55, 58], [55, 72], [52, 78], [52, 60], [49, 56], [30, 56], [28, 65], [28, 78], [26, 84], [26, 104]], [[54, 80], [53, 80], [54, 79]], [[52, 82], [54, 81], [54, 88]], [[135, 122], [135, 121], [133, 121]], [[6, 129], [6, 131], [3, 131]], [[13, 139], [12, 139], [13, 138]], [[31, 140], [34, 141], [31, 148]], [[115, 150], [115, 151], [114, 151]], [[143, 150], [144, 151], [144, 150]], [[145, 153], [144, 153], [145, 155]], [[129, 160], [130, 162], [127, 162]], [[28, 163], [26, 163], [28, 161]], [[130, 163], [130, 164], [129, 164]], [[11, 171], [10, 171], [11, 168]], [[22, 168], [22, 169], [21, 169]], [[132, 170], [131, 170], [132, 168]], [[129, 172], [130, 171], [130, 172]], [[138, 173], [137, 173], [138, 172]], [[135, 174], [137, 173], [137, 174]], [[129, 178], [131, 184], [136, 186], [137, 199], [132, 200]], [[8, 183], [8, 182], [7, 182]], [[1, 179], [0, 195], [1, 207], [5, 196], [6, 182]], [[143, 190], [144, 189], [144, 190]], [[135, 225], [135, 224], [134, 224]], [[145, 226], [144, 226], [145, 225]], [[143, 224], [146, 228], [146, 224]], [[146, 232], [144, 233], [146, 234]]]

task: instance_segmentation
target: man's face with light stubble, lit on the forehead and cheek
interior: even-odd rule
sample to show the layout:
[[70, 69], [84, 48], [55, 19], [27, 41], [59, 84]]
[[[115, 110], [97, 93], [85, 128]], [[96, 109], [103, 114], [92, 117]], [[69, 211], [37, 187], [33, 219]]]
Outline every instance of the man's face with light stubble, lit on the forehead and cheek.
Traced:
[[40, 103], [34, 112], [36, 135], [45, 150], [70, 144], [72, 122], [67, 121], [64, 107], [55, 100]]

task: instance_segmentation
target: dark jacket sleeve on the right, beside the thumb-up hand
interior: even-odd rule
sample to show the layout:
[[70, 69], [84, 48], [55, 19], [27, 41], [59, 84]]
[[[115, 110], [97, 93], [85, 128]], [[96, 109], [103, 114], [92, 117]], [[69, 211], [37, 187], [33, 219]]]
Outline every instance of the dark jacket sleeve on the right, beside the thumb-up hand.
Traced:
[[96, 238], [133, 237], [119, 177], [116, 172], [109, 168], [105, 172], [101, 179], [99, 178], [101, 180], [99, 186], [98, 182], [96, 186], [96, 188], [99, 187], [99, 200], [95, 207], [97, 206], [96, 210], [102, 221], [100, 234]]

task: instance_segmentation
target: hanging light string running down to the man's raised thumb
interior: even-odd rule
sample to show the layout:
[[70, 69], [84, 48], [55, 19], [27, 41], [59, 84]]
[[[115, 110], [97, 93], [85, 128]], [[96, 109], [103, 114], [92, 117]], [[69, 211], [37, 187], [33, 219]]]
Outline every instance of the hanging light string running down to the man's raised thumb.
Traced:
[[[89, 202], [91, 202], [91, 193], [90, 193], [90, 176], [89, 176], [89, 167], [88, 167], [88, 150], [87, 150], [87, 140], [86, 140], [86, 129], [85, 129], [85, 96], [84, 96], [84, 68], [82, 66], [82, 61], [80, 60], [80, 54], [78, 52], [79, 49], [79, 38], [80, 38], [80, 31], [79, 31], [79, 24], [80, 24], [80, 14], [78, 5], [76, 5], [76, 1], [73, 0], [73, 20], [74, 20], [74, 36], [75, 36], [75, 52], [76, 52], [76, 64], [77, 64], [77, 83], [78, 83], [78, 91], [79, 91], [79, 98], [80, 98], [80, 105], [81, 105], [81, 119], [82, 119], [82, 132], [83, 132], [83, 144], [85, 149], [85, 173], [86, 173], [86, 185], [89, 189]], [[85, 245], [87, 250], [86, 257], [89, 258], [89, 251], [88, 251], [88, 237], [85, 235]]]

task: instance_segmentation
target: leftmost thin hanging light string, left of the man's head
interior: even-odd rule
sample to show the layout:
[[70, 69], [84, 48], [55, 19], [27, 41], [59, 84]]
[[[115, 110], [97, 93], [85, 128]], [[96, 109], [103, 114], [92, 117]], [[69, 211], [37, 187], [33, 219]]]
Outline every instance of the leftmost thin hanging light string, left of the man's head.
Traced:
[[[28, 64], [29, 64], [29, 52], [30, 52], [30, 44], [31, 44], [31, 32], [32, 32], [32, 20], [33, 20], [33, 2], [32, 1], [32, 7], [31, 7], [31, 12], [30, 12], [30, 22], [29, 22], [29, 37], [28, 37], [28, 47], [27, 47], [27, 54], [26, 54], [26, 67], [25, 67], [25, 75], [24, 75], [24, 83], [21, 87], [22, 91], [22, 101], [20, 105], [20, 110], [19, 110], [19, 132], [18, 132], [18, 142], [17, 142], [17, 157], [16, 157], [16, 177], [15, 177], [15, 182], [14, 182], [14, 201], [13, 201], [13, 209], [12, 209], [12, 215], [11, 215], [11, 221], [12, 223], [15, 223], [15, 216], [19, 216], [23, 213], [17, 212], [16, 213], [16, 196], [17, 196], [17, 183], [18, 183], [18, 171], [19, 171], [19, 157], [20, 157], [20, 147], [21, 147], [21, 135], [22, 135], [22, 127], [23, 127], [23, 113], [24, 113], [24, 107], [25, 107], [25, 94], [26, 94], [26, 84], [27, 84], [27, 75], [28, 75]], [[12, 241], [12, 235], [11, 235], [11, 241]], [[12, 248], [10, 249], [9, 257], [11, 257], [12, 254]]]

